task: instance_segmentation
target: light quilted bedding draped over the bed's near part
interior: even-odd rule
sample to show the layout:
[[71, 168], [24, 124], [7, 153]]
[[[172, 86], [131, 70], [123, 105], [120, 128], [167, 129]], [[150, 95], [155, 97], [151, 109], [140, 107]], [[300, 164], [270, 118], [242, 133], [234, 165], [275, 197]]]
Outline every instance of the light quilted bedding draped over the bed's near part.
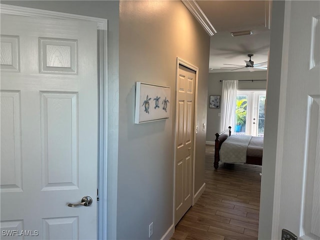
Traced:
[[221, 145], [220, 162], [245, 162], [246, 149], [252, 136], [231, 135]]

